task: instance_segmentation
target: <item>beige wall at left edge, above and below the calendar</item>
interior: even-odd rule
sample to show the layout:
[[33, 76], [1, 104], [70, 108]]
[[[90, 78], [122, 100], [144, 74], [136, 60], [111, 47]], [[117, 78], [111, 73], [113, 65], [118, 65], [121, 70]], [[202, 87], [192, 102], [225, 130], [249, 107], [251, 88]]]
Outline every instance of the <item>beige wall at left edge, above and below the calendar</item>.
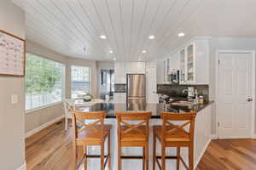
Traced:
[[[0, 29], [25, 38], [25, 13], [9, 0], [0, 0]], [[19, 102], [10, 103], [12, 94]], [[0, 169], [25, 163], [24, 78], [0, 76]]]

